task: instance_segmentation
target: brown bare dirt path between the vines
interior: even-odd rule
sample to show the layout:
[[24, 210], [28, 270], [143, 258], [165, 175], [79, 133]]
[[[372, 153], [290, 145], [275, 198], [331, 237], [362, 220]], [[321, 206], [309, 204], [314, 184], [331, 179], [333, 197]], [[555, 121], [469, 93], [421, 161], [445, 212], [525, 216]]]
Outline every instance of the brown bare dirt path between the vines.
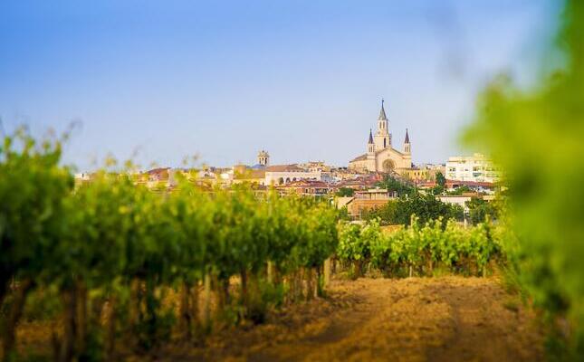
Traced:
[[327, 300], [284, 310], [267, 324], [227, 330], [206, 348], [160, 360], [541, 360], [541, 332], [493, 279], [334, 281]]

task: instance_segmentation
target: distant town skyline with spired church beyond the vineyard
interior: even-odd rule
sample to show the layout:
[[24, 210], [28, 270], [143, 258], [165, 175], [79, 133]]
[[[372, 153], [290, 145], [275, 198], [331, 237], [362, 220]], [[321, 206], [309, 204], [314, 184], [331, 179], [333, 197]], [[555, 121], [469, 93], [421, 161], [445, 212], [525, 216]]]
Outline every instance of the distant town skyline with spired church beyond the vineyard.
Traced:
[[[360, 214], [364, 208], [377, 207], [387, 203], [395, 195], [376, 188], [385, 176], [400, 178], [419, 189], [436, 186], [436, 175], [445, 176], [445, 189], [452, 190], [465, 186], [466, 190], [483, 195], [493, 194], [500, 180], [500, 170], [488, 158], [480, 154], [469, 157], [449, 157], [445, 164], [412, 163], [412, 144], [406, 129], [403, 148], [393, 147], [389, 121], [381, 101], [375, 134], [369, 129], [367, 152], [349, 161], [348, 167], [331, 167], [322, 161], [303, 164], [272, 165], [270, 154], [261, 150], [253, 166], [242, 164], [233, 167], [202, 167], [198, 170], [160, 167], [136, 175], [140, 184], [159, 190], [172, 189], [177, 185], [177, 173], [187, 175], [201, 186], [228, 188], [247, 183], [257, 189], [274, 187], [282, 195], [332, 195], [342, 188], [350, 188], [355, 194], [348, 198], [338, 198], [346, 204], [351, 214]], [[78, 182], [91, 179], [89, 174], [76, 176]], [[451, 197], [452, 198], [452, 197]], [[460, 202], [462, 198], [447, 200]]]

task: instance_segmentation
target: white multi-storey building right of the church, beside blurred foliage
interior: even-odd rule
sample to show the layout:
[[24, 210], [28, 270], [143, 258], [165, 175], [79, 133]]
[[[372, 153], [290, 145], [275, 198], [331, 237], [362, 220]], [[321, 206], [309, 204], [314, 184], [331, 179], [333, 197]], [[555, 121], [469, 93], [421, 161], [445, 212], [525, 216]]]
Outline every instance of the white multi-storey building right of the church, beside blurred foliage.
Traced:
[[498, 182], [501, 171], [483, 155], [449, 157], [446, 162], [446, 178], [455, 181]]

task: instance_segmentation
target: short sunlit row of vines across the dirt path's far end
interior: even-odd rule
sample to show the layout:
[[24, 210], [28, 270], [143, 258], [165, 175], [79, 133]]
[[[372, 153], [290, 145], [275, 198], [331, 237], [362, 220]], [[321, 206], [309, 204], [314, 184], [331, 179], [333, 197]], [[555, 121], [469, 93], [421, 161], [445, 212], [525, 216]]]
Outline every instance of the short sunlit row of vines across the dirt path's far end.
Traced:
[[499, 231], [491, 224], [464, 228], [453, 220], [424, 225], [412, 217], [411, 226], [381, 233], [377, 222], [365, 227], [345, 225], [337, 257], [355, 275], [375, 268], [386, 277], [433, 276], [437, 273], [483, 275], [493, 262], [503, 262]]

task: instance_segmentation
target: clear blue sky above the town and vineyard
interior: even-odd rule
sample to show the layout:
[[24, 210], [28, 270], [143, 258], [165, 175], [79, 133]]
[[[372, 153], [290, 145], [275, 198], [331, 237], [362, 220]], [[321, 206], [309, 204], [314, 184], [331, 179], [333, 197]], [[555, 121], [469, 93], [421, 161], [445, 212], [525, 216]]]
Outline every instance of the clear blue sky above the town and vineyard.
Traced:
[[10, 1], [0, 3], [0, 117], [74, 129], [65, 162], [143, 167], [324, 160], [365, 152], [381, 98], [415, 163], [457, 135], [494, 74], [529, 82], [556, 2]]

